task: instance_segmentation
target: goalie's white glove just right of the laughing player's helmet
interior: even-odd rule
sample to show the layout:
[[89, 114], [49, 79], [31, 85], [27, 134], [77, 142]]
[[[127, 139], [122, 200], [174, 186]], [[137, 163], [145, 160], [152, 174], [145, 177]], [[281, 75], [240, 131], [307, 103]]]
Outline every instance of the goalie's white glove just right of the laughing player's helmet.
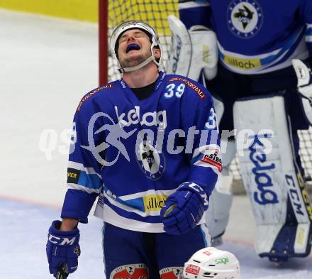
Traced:
[[207, 80], [216, 77], [218, 46], [216, 34], [205, 26], [192, 26], [188, 31], [175, 16], [168, 16], [172, 42], [166, 72], [199, 80], [204, 69]]

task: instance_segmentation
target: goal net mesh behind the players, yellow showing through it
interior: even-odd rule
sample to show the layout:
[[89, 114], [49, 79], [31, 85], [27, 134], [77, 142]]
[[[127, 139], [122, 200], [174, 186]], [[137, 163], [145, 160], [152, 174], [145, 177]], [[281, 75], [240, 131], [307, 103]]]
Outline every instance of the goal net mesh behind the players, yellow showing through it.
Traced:
[[[104, 0], [100, 0], [104, 1]], [[178, 16], [177, 0], [108, 0], [108, 40], [113, 28], [123, 21], [142, 20], [150, 24], [160, 35], [160, 41], [164, 50], [164, 62], [170, 43], [170, 31], [167, 16], [173, 14]], [[101, 13], [100, 13], [101, 16]], [[108, 53], [108, 50], [107, 52]], [[116, 62], [108, 55], [108, 77], [107, 80], [118, 80], [120, 78]], [[300, 155], [306, 177], [312, 177], [312, 128], [308, 131], [299, 131]], [[239, 184], [241, 181], [238, 157], [230, 165], [230, 173]]]

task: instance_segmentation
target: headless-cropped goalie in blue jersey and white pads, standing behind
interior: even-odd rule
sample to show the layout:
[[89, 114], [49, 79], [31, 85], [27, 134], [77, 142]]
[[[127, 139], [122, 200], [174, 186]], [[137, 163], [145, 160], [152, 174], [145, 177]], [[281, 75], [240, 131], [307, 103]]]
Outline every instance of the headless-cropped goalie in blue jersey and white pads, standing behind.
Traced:
[[[220, 131], [233, 132], [221, 136], [226, 152], [223, 179], [207, 214], [211, 236], [220, 239], [228, 222], [232, 196], [225, 171], [237, 149], [257, 223], [257, 253], [272, 261], [307, 256], [312, 207], [297, 131], [312, 123], [307, 66], [312, 1], [179, 1], [179, 13], [181, 21], [169, 18], [173, 43], [167, 72], [206, 82], [219, 100], [220, 115], [224, 112]], [[247, 134], [247, 144], [240, 141], [244, 129], [253, 133]], [[229, 135], [237, 138], [236, 148]]]

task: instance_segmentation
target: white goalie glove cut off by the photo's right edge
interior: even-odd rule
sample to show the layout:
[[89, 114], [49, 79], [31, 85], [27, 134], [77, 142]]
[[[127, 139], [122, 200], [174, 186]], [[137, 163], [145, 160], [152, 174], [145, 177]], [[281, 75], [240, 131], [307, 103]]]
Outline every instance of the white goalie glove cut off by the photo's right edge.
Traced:
[[312, 125], [312, 74], [311, 69], [299, 59], [293, 59], [292, 65], [296, 72], [298, 84], [297, 89], [301, 94], [301, 102], [306, 119]]

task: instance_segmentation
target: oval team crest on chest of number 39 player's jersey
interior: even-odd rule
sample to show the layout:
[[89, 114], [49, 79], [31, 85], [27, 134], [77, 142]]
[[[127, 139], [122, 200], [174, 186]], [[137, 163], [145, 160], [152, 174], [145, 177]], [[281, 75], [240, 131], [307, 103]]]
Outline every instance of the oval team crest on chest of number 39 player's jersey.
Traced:
[[150, 180], [162, 177], [165, 170], [165, 157], [153, 141], [145, 137], [137, 141], [135, 147], [136, 159], [140, 169]]

